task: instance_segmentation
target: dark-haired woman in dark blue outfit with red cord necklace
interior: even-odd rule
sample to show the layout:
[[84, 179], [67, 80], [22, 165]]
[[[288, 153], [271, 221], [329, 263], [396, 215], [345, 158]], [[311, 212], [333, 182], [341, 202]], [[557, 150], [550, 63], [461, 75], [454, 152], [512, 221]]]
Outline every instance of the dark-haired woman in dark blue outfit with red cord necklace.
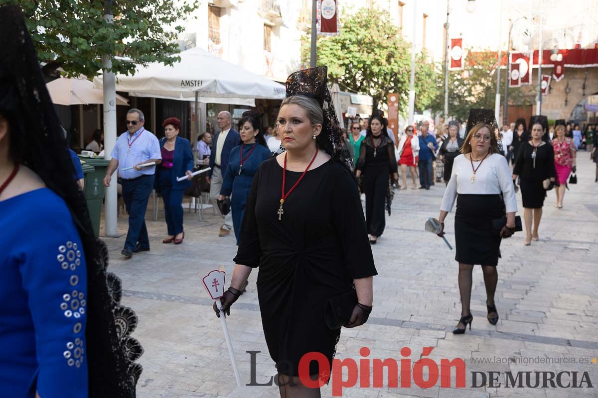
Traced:
[[260, 117], [256, 112], [251, 110], [244, 112], [243, 118], [239, 121], [239, 126], [241, 143], [230, 152], [227, 170], [224, 174], [224, 181], [218, 198], [218, 200], [223, 200], [230, 196], [234, 236], [237, 238], [237, 245], [239, 244], [243, 212], [245, 212], [247, 196], [255, 172], [258, 171], [261, 162], [271, 157], [270, 150], [261, 132]]

